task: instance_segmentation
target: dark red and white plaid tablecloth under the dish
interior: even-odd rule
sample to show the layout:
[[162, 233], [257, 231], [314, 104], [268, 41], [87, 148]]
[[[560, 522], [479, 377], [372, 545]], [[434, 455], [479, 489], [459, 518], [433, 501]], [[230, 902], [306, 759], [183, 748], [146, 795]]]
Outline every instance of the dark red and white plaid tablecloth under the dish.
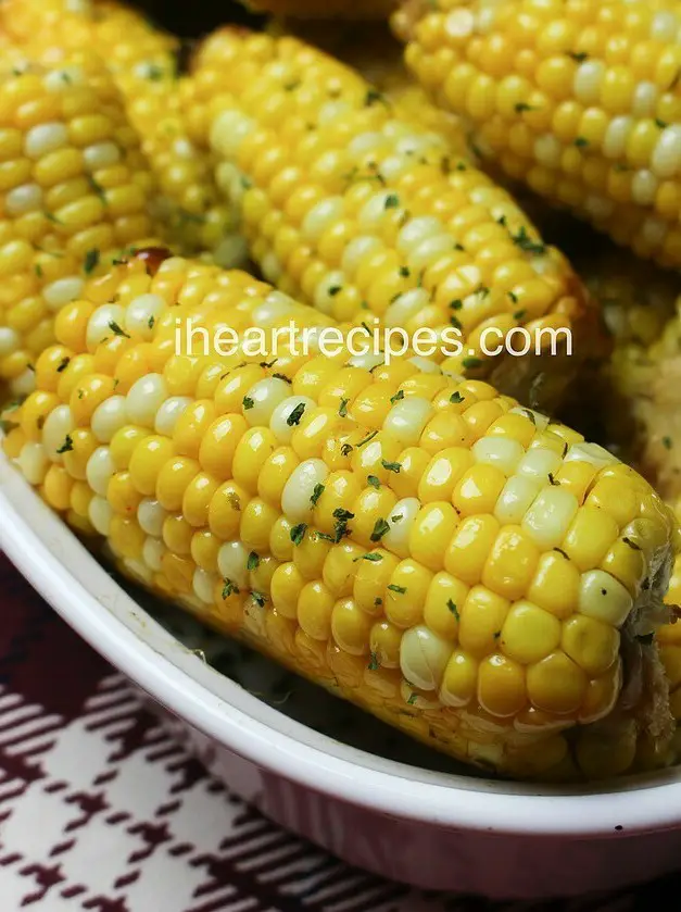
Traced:
[[[681, 860], [680, 860], [681, 866]], [[556, 910], [669, 904], [681, 875]], [[353, 871], [266, 821], [0, 555], [0, 912], [515, 912]]]

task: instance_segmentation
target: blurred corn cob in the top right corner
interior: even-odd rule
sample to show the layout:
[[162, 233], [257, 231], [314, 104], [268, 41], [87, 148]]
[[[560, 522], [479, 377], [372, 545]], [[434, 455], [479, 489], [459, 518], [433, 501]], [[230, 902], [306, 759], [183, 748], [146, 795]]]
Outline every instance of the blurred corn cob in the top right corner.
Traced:
[[678, 0], [411, 0], [395, 27], [481, 153], [617, 243], [681, 266]]

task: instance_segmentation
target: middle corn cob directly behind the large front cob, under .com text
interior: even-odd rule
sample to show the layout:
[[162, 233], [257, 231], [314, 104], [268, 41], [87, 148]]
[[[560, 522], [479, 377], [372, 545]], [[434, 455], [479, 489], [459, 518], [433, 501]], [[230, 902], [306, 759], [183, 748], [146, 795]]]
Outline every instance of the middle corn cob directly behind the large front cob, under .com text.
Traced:
[[[253, 259], [285, 292], [341, 321], [455, 328], [464, 343], [447, 366], [530, 404], [556, 398], [588, 357], [594, 311], [562, 254], [351, 70], [293, 38], [225, 29], [199, 54], [187, 109], [196, 141], [224, 160], [218, 184]], [[571, 330], [575, 357], [484, 357], [485, 332], [519, 326], [540, 347]]]

